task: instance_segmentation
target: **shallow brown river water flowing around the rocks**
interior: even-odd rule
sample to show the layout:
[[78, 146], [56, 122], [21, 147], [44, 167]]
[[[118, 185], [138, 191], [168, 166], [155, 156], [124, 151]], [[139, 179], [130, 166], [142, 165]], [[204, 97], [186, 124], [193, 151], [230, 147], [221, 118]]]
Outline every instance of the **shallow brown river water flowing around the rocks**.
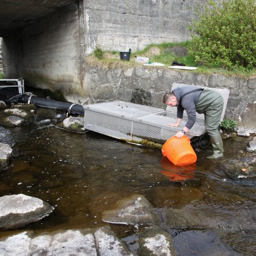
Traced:
[[[52, 214], [40, 222], [1, 231], [0, 237], [28, 229], [40, 234], [101, 227], [107, 224], [101, 220], [102, 211], [134, 193], [143, 194], [158, 209], [197, 208], [210, 215], [212, 212], [220, 220], [228, 215], [239, 221], [255, 212], [255, 182], [229, 180], [218, 168], [223, 159], [205, 158], [211, 154], [210, 149], [196, 151], [195, 166], [177, 169], [160, 149], [94, 132], [66, 132], [50, 120], [26, 127], [0, 126], [0, 141], [14, 150], [8, 168], [0, 172], [0, 196], [23, 193], [55, 206]], [[251, 138], [224, 141], [225, 159], [242, 155], [249, 141]], [[180, 176], [194, 182], [175, 182]], [[110, 226], [136, 250], [138, 229]], [[255, 230], [167, 230], [179, 255], [253, 255], [256, 251]]]

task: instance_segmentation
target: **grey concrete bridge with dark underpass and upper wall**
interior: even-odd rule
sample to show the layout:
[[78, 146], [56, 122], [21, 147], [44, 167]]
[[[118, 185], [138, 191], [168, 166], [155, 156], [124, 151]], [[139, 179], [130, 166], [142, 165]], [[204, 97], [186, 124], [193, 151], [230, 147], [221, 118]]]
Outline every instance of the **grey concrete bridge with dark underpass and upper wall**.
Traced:
[[1, 1], [4, 74], [33, 87], [88, 97], [85, 59], [106, 50], [137, 51], [151, 42], [184, 41], [192, 0]]

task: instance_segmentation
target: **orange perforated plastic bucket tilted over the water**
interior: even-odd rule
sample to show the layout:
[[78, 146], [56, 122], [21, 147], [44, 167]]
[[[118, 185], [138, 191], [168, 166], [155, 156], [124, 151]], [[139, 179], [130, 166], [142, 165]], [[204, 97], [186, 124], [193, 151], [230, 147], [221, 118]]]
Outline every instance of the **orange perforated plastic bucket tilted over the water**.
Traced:
[[173, 136], [167, 139], [166, 143], [163, 144], [162, 153], [177, 166], [185, 166], [197, 161], [197, 155], [191, 147], [190, 138], [185, 135], [181, 138]]

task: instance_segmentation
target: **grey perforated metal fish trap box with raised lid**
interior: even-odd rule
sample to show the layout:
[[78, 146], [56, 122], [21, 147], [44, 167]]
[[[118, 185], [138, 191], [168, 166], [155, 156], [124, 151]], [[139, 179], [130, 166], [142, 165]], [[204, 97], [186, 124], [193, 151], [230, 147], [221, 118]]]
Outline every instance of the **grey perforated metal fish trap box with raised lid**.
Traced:
[[[173, 84], [173, 88], [184, 84]], [[214, 90], [224, 90], [209, 88]], [[226, 90], [228, 91], [228, 90]], [[228, 93], [223, 96], [227, 97]], [[227, 100], [224, 100], [224, 109]], [[139, 144], [149, 142], [163, 144], [173, 137], [180, 127], [184, 127], [187, 115], [181, 121], [180, 127], [170, 127], [169, 123], [176, 122], [176, 108], [155, 108], [131, 102], [113, 101], [84, 105], [84, 128], [123, 141]], [[224, 115], [223, 109], [223, 115]], [[196, 124], [186, 133], [188, 138], [205, 133], [204, 115], [198, 114]]]

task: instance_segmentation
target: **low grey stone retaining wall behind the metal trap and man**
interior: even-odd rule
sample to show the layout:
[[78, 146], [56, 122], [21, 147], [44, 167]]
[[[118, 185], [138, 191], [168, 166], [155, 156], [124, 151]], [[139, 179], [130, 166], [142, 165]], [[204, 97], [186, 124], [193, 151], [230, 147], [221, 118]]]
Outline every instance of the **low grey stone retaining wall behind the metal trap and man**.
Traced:
[[195, 84], [230, 90], [225, 118], [236, 120], [239, 130], [256, 132], [256, 77], [240, 78], [224, 75], [204, 75], [195, 71], [163, 68], [88, 70], [89, 99], [91, 103], [123, 100], [165, 108], [163, 94], [173, 83]]

